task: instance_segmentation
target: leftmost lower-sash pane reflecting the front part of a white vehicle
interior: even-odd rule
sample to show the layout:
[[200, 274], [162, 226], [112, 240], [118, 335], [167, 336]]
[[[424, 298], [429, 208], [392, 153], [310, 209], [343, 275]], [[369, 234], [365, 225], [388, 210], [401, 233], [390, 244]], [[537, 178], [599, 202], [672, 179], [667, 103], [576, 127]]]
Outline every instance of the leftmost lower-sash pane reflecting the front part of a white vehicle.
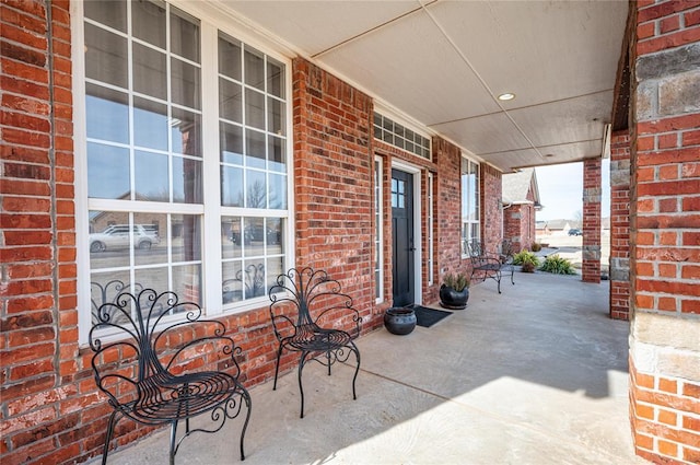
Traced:
[[129, 213], [90, 211], [90, 269], [129, 265]]

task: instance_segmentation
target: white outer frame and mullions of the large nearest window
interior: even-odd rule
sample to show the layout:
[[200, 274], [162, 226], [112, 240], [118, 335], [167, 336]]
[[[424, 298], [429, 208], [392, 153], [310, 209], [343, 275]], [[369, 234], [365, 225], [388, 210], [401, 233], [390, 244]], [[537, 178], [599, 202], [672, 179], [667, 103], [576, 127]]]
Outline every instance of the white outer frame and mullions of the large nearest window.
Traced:
[[[139, 202], [138, 210], [124, 202], [115, 200], [89, 201], [88, 198], [88, 158], [86, 158], [86, 115], [85, 115], [85, 62], [84, 62], [84, 14], [83, 2], [73, 1], [70, 4], [71, 16], [71, 53], [73, 74], [73, 136], [74, 136], [74, 167], [75, 167], [75, 246], [78, 265], [78, 328], [79, 344], [86, 346], [91, 319], [91, 289], [90, 289], [90, 237], [89, 237], [89, 211], [104, 208], [109, 211], [139, 211], [172, 214], [200, 214], [202, 218], [202, 267], [201, 281], [203, 294], [202, 307], [207, 315], [215, 316], [223, 313], [240, 313], [254, 307], [260, 307], [267, 298], [250, 299], [238, 302], [235, 307], [223, 307], [221, 286], [221, 218], [228, 216], [222, 211], [220, 197], [220, 159], [219, 159], [219, 107], [218, 107], [218, 37], [219, 31], [235, 37], [242, 43], [256, 48], [266, 56], [284, 65], [284, 102], [285, 102], [285, 133], [287, 133], [287, 209], [264, 210], [240, 209], [236, 214], [244, 217], [275, 217], [284, 219], [284, 236], [282, 246], [284, 252], [283, 267], [289, 268], [294, 264], [294, 197], [293, 197], [293, 121], [292, 121], [292, 62], [288, 56], [271, 49], [270, 40], [252, 34], [243, 23], [229, 16], [219, 8], [199, 2], [170, 1], [179, 10], [199, 20], [200, 24], [200, 66], [201, 66], [201, 127], [202, 127], [202, 204], [184, 205], [163, 202]], [[240, 30], [237, 30], [240, 27]], [[267, 117], [267, 116], [266, 116]], [[215, 154], [215, 156], [213, 155]], [[212, 182], [214, 181], [214, 182]], [[223, 209], [225, 210], [225, 209]], [[231, 210], [229, 210], [231, 211]]]

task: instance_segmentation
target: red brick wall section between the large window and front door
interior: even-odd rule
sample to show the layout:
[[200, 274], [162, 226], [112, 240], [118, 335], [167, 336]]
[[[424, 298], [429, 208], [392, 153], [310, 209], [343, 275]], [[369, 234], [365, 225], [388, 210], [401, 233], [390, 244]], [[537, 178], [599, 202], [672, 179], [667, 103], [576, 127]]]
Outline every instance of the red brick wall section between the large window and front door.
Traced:
[[298, 266], [325, 269], [377, 325], [372, 100], [301, 58], [292, 68]]

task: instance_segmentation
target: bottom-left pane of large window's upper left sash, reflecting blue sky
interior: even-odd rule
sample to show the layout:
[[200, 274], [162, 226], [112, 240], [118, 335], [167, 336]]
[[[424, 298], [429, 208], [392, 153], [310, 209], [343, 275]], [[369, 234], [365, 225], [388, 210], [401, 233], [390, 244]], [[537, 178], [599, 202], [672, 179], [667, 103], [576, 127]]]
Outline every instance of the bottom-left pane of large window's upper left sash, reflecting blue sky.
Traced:
[[88, 196], [130, 199], [128, 149], [88, 143]]

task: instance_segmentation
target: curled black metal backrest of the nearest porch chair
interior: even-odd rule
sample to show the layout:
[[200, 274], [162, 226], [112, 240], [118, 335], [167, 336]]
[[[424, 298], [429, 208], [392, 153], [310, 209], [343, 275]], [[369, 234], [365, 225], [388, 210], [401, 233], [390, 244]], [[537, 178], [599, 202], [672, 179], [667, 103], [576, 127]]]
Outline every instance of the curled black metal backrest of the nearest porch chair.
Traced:
[[[180, 316], [170, 322], [176, 314]], [[89, 338], [97, 386], [118, 402], [125, 395], [140, 395], [126, 392], [138, 390], [139, 383], [153, 376], [185, 369], [197, 371], [221, 358], [237, 376], [240, 367], [234, 354], [241, 349], [224, 336], [223, 323], [201, 319], [201, 315], [198, 304], [180, 302], [170, 291], [121, 292], [114, 301], [105, 302]], [[102, 339], [106, 341], [103, 344]]]

